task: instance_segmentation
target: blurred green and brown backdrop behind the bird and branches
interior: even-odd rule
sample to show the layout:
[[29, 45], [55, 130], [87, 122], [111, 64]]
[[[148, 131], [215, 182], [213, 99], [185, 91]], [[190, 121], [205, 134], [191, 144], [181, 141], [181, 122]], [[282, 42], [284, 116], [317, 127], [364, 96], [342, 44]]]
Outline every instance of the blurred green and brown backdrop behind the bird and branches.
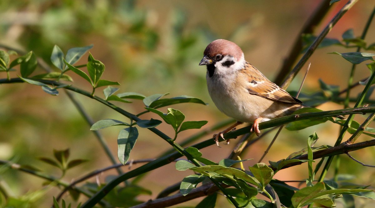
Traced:
[[[303, 24], [321, 1], [226, 1], [226, 0], [1, 0], [0, 1], [0, 44], [34, 53], [58, 71], [50, 61], [54, 45], [60, 46], [64, 53], [69, 48], [94, 44], [90, 52], [95, 59], [105, 64], [103, 79], [121, 83], [118, 92], [138, 92], [146, 96], [164, 94], [168, 97], [190, 95], [201, 98], [207, 106], [198, 104], [179, 104], [172, 106], [186, 115], [186, 120], [207, 120], [203, 128], [228, 119], [212, 103], [205, 83], [205, 67], [198, 66], [202, 53], [208, 43], [215, 39], [228, 39], [239, 45], [245, 53], [245, 59], [257, 67], [270, 80], [276, 77], [283, 59], [288, 55], [291, 45], [297, 38]], [[339, 1], [331, 6], [324, 21], [315, 29], [319, 34], [330, 19], [347, 1]], [[360, 36], [372, 12], [374, 2], [361, 0], [350, 9], [327, 37], [341, 40], [344, 31], [353, 28], [354, 35]], [[374, 22], [366, 37], [367, 43], [375, 42]], [[318, 49], [309, 59], [310, 72], [302, 92], [319, 91], [318, 79], [330, 85], [338, 85], [345, 89], [350, 74], [351, 64], [338, 55], [329, 52], [352, 52], [356, 49], [345, 49], [330, 46]], [[14, 59], [16, 56], [11, 56]], [[87, 54], [78, 62], [86, 64]], [[306, 66], [304, 68], [307, 68]], [[304, 70], [303, 70], [304, 71]], [[17, 77], [19, 72], [12, 72]], [[35, 74], [44, 73], [38, 68]], [[90, 86], [75, 74], [68, 72], [74, 79], [74, 86], [90, 90]], [[354, 80], [369, 76], [365, 64], [357, 66]], [[302, 80], [300, 74], [288, 90], [297, 91]], [[5, 73], [0, 79], [6, 78]], [[356, 97], [363, 90], [359, 86], [352, 92]], [[104, 97], [102, 89], [96, 95]], [[128, 122], [125, 117], [115, 111], [81, 95], [75, 96], [83, 103], [95, 121], [101, 119], [117, 119]], [[90, 126], [63, 91], [57, 97], [44, 93], [40, 87], [26, 84], [0, 86], [0, 159], [12, 160], [20, 164], [37, 166], [43, 172], [58, 176], [59, 170], [38, 160], [38, 157], [52, 157], [53, 149], [69, 148], [71, 158], [88, 159], [84, 163], [67, 172], [65, 181], [82, 176], [95, 169], [111, 165], [110, 160], [100, 147]], [[141, 101], [132, 104], [118, 104], [125, 110], [137, 114], [143, 111]], [[353, 106], [353, 104], [351, 104]], [[326, 103], [318, 108], [333, 110], [342, 105]], [[166, 108], [161, 108], [166, 111]], [[141, 118], [160, 119], [156, 114], [144, 114]], [[361, 122], [365, 117], [356, 116]], [[243, 127], [243, 126], [241, 126]], [[160, 125], [161, 131], [173, 136], [172, 128]], [[120, 127], [103, 129], [114, 155], [117, 153], [117, 135]], [[316, 146], [331, 145], [336, 141], [339, 127], [332, 123], [313, 126], [301, 131], [290, 132], [284, 129], [278, 140], [263, 160], [277, 161], [286, 158], [290, 153], [306, 147], [307, 138], [314, 131], [320, 140]], [[177, 142], [189, 137], [199, 130], [182, 132]], [[245, 162], [245, 166], [256, 163], [266, 150], [276, 132], [272, 132], [263, 140], [253, 145], [242, 159], [254, 159]], [[348, 136], [348, 134], [347, 134]], [[211, 134], [199, 141], [206, 140]], [[359, 141], [371, 139], [363, 135]], [[227, 157], [236, 140], [222, 148], [216, 146], [202, 149], [204, 157], [219, 162]], [[169, 145], [147, 129], [139, 129], [139, 138], [132, 150], [130, 159], [156, 158]], [[374, 165], [375, 151], [367, 148], [352, 154], [364, 163]], [[135, 165], [136, 167], [138, 165]], [[343, 168], [344, 167], [344, 168]], [[124, 171], [127, 169], [124, 168]], [[360, 165], [345, 156], [341, 157], [340, 174], [356, 175], [356, 183], [370, 185], [374, 183], [374, 169], [360, 168]], [[332, 176], [330, 171], [328, 178]], [[108, 171], [100, 175], [100, 181], [116, 174]], [[174, 163], [163, 166], [148, 174], [140, 185], [152, 191], [151, 196], [141, 200], [155, 198], [165, 187], [181, 181], [192, 172], [176, 171]], [[308, 177], [307, 165], [280, 171], [275, 178], [279, 180], [305, 180]], [[0, 169], [0, 181], [13, 196], [42, 189], [40, 178], [23, 172], [3, 168]], [[95, 182], [95, 179], [91, 179]], [[298, 183], [290, 183], [299, 186]], [[51, 205], [52, 196], [59, 190], [51, 189], [42, 197], [30, 201], [31, 207]], [[65, 196], [67, 201], [72, 201]], [[80, 201], [87, 198], [81, 196]], [[193, 206], [201, 199], [185, 202], [180, 206]], [[363, 199], [358, 199], [362, 203]], [[229, 203], [219, 198], [222, 207]], [[366, 203], [366, 201], [363, 201]], [[220, 207], [220, 206], [218, 206]], [[338, 204], [340, 207], [340, 204]], [[371, 207], [371, 206], [367, 206]]]

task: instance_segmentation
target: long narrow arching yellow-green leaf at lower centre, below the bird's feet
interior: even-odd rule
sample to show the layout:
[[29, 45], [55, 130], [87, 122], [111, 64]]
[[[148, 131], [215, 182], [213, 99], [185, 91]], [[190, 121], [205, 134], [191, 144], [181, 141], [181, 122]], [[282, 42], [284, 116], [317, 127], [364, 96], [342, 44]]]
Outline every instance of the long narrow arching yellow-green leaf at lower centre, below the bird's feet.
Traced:
[[193, 171], [204, 173], [204, 172], [213, 172], [216, 174], [225, 174], [229, 176], [236, 176], [237, 178], [240, 178], [242, 180], [245, 180], [248, 183], [251, 183], [255, 186], [259, 186], [259, 184], [255, 181], [257, 180], [255, 177], [252, 177], [251, 175], [246, 174], [243, 171], [240, 171], [236, 168], [227, 168], [221, 165], [205, 165], [197, 168], [190, 168]]

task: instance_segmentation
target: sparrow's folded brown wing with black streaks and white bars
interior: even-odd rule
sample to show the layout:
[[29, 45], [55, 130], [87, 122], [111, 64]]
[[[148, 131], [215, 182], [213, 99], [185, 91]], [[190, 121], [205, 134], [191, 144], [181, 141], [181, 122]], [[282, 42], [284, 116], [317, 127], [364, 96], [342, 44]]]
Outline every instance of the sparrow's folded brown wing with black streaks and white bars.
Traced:
[[241, 72], [247, 78], [248, 83], [246, 83], [246, 86], [250, 94], [284, 103], [302, 103], [297, 98], [291, 96], [287, 91], [267, 79], [251, 64], [246, 63], [246, 67]]

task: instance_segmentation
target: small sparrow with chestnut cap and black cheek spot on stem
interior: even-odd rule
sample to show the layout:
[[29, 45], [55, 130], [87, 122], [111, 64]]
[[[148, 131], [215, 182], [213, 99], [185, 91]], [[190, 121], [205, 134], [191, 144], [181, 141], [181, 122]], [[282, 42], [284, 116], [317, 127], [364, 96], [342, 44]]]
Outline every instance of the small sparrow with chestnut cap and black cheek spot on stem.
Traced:
[[[219, 134], [219, 137], [236, 126], [253, 123], [251, 132], [260, 136], [259, 123], [279, 118], [303, 108], [302, 102], [271, 82], [244, 58], [236, 43], [214, 40], [204, 50], [199, 65], [207, 66], [207, 87], [211, 99], [219, 110], [237, 123]], [[229, 143], [229, 141], [227, 141]]]

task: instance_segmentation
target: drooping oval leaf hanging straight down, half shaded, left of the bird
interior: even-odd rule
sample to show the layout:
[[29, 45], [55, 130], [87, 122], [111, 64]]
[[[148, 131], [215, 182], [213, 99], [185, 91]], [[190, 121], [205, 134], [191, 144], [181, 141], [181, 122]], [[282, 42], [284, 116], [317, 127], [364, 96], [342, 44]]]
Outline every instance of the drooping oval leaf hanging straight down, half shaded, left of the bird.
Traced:
[[117, 156], [118, 160], [125, 165], [129, 160], [130, 151], [132, 151], [134, 144], [138, 138], [138, 130], [135, 127], [129, 127], [122, 129], [118, 134], [117, 144]]

